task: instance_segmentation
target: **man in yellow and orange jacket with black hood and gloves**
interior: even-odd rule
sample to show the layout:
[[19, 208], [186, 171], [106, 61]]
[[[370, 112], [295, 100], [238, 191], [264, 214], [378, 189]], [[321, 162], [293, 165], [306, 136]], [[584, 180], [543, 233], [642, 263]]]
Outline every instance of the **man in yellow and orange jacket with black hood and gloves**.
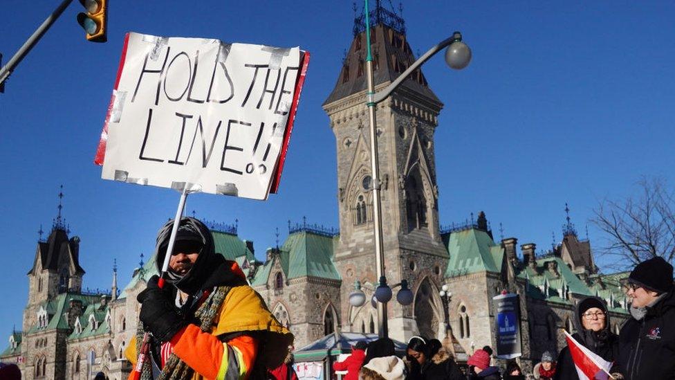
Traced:
[[[158, 233], [158, 270], [167, 255], [173, 223], [167, 222]], [[152, 335], [140, 379], [264, 376], [257, 371], [264, 373], [281, 363], [293, 335], [248, 286], [237, 263], [214, 251], [210, 230], [201, 221], [181, 219], [175, 241], [168, 284], [160, 288], [158, 276], [153, 276], [138, 294], [140, 321]], [[135, 368], [144, 331], [139, 334], [125, 352]]]

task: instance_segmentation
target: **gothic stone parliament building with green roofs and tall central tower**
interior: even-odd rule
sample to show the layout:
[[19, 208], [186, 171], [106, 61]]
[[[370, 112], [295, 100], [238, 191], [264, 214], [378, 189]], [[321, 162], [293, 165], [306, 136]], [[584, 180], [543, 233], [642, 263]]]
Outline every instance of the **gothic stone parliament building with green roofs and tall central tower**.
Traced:
[[[376, 89], [387, 86], [414, 62], [403, 19], [373, 10], [371, 43]], [[255, 259], [251, 242], [236, 228], [212, 224], [216, 251], [236, 260], [250, 284], [302, 347], [336, 329], [378, 331], [376, 308], [349, 304], [355, 282], [367, 299], [376, 286], [373, 217], [369, 184], [370, 153], [366, 108], [362, 19], [355, 20], [353, 40], [335, 88], [324, 102], [338, 154], [339, 232], [303, 222], [289, 226], [286, 241]], [[571, 331], [575, 302], [600, 296], [618, 331], [628, 316], [618, 280], [626, 273], [602, 275], [588, 240], [579, 239], [568, 221], [564, 238], [544, 255], [535, 244], [517, 239], [495, 242], [483, 212], [474, 221], [441, 228], [434, 161], [434, 131], [443, 104], [416, 71], [377, 105], [382, 172], [385, 273], [389, 284], [407, 280], [412, 305], [387, 304], [389, 335], [407, 341], [413, 335], [443, 338], [445, 307], [457, 359], [483, 345], [495, 344], [492, 297], [501, 291], [520, 295], [522, 364], [528, 368], [545, 350], [564, 346], [562, 329]], [[84, 270], [79, 239], [68, 238], [55, 224], [37, 244], [28, 272], [28, 303], [21, 332], [14, 332], [0, 354], [19, 363], [25, 379], [91, 379], [104, 372], [120, 380], [129, 373], [122, 356], [136, 333], [136, 295], [156, 273], [154, 257], [133, 273], [118, 296], [116, 279], [109, 294], [82, 291]], [[443, 305], [438, 291], [447, 284], [452, 298]], [[396, 289], [394, 289], [396, 291]]]

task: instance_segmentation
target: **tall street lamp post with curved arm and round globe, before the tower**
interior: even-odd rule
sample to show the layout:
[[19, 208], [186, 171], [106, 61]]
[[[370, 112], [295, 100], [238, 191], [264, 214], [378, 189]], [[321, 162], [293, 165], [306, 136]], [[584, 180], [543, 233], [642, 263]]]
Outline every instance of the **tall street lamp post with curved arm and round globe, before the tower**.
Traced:
[[[370, 123], [370, 156], [371, 156], [371, 172], [372, 172], [372, 188], [373, 188], [373, 228], [375, 230], [375, 265], [376, 275], [378, 277], [379, 285], [376, 290], [376, 297], [378, 291], [382, 298], [378, 297], [378, 332], [380, 338], [386, 338], [389, 334], [387, 328], [387, 302], [391, 299], [391, 289], [387, 286], [387, 277], [385, 276], [385, 252], [382, 242], [382, 204], [380, 202], [380, 163], [378, 159], [378, 130], [376, 120], [376, 105], [394, 91], [403, 80], [415, 71], [424, 62], [429, 60], [434, 54], [441, 51], [441, 49], [448, 46], [445, 52], [445, 62], [452, 69], [463, 69], [471, 60], [471, 50], [466, 44], [462, 42], [462, 35], [459, 32], [453, 33], [452, 37], [443, 40], [441, 43], [432, 47], [424, 53], [418, 60], [416, 60], [410, 67], [404, 71], [394, 82], [382, 91], [375, 92], [375, 80], [373, 78], [373, 55], [371, 53], [371, 39], [370, 39], [370, 15], [368, 8], [368, 0], [365, 1], [364, 12], [366, 18], [366, 41], [368, 42], [368, 53], [366, 57], [366, 71], [368, 82], [368, 93], [366, 104], [368, 107], [368, 118]], [[387, 290], [389, 292], [387, 293]], [[389, 295], [387, 297], [387, 294]]]

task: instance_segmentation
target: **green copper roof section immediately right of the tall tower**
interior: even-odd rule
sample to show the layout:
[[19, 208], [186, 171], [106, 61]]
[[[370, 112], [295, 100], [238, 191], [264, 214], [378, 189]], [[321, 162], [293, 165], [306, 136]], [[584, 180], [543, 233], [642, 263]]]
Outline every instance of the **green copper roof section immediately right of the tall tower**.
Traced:
[[459, 230], [443, 235], [450, 260], [445, 277], [456, 277], [477, 272], [501, 272], [503, 248], [494, 244], [486, 231], [477, 228]]

